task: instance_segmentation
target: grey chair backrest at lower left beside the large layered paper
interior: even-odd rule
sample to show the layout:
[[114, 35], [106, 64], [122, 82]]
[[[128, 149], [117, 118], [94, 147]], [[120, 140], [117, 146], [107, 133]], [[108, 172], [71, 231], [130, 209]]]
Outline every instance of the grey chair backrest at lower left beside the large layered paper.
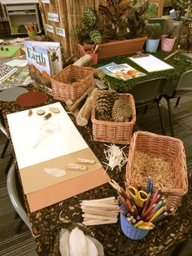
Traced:
[[28, 214], [26, 213], [26, 210], [24, 209], [24, 204], [21, 200], [20, 188], [18, 186], [18, 183], [18, 175], [15, 171], [15, 164], [13, 164], [7, 174], [7, 191], [11, 199], [11, 203], [15, 208], [15, 211], [17, 212], [17, 214], [20, 215], [20, 218], [23, 219], [24, 223], [28, 226], [33, 234], [32, 227], [29, 223]]

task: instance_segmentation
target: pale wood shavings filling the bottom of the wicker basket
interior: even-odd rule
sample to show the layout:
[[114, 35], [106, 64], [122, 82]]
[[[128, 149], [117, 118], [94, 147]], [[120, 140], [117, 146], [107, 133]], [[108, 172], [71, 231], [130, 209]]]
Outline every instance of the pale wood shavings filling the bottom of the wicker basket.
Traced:
[[146, 180], [151, 175], [154, 185], [175, 188], [174, 174], [167, 161], [159, 157], [152, 157], [146, 152], [137, 150], [133, 163], [133, 179]]

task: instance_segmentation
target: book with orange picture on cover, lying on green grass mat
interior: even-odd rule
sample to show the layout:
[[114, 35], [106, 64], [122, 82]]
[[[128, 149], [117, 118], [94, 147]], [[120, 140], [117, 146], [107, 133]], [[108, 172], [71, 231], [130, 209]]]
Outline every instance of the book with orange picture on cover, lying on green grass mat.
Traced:
[[143, 77], [146, 76], [145, 73], [138, 71], [137, 69], [129, 66], [129, 64], [112, 64], [111, 66], [108, 65], [107, 70], [110, 71], [115, 75], [116, 78], [127, 81], [129, 79], [133, 79], [136, 77]]

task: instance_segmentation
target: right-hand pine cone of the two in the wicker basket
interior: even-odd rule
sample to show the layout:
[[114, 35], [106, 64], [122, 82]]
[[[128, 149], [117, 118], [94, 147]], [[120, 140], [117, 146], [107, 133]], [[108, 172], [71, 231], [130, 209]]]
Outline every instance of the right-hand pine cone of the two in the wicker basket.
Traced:
[[132, 108], [125, 99], [116, 99], [112, 108], [113, 121], [130, 121], [132, 117]]

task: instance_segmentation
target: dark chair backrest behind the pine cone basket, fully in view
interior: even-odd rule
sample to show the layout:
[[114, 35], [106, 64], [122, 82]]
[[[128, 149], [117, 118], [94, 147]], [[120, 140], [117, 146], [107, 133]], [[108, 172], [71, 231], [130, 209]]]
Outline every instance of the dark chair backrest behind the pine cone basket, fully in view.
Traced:
[[148, 104], [163, 95], [166, 82], [163, 77], [139, 82], [129, 93], [133, 95], [135, 104]]

